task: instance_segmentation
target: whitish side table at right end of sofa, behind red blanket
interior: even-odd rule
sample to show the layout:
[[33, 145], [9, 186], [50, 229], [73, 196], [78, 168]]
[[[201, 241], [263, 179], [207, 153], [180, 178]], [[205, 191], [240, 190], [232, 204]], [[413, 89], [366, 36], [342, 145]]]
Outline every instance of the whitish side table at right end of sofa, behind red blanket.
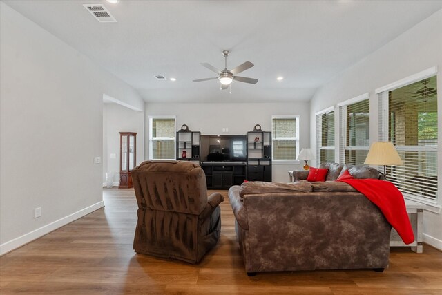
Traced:
[[405, 200], [405, 206], [407, 207], [407, 213], [410, 217], [410, 223], [412, 224], [414, 233], [414, 242], [411, 244], [404, 244], [401, 237], [398, 235], [395, 229], [392, 229], [390, 234], [390, 247], [411, 247], [412, 251], [416, 253], [422, 253], [423, 251], [423, 209], [425, 204], [414, 202], [412, 200]]

